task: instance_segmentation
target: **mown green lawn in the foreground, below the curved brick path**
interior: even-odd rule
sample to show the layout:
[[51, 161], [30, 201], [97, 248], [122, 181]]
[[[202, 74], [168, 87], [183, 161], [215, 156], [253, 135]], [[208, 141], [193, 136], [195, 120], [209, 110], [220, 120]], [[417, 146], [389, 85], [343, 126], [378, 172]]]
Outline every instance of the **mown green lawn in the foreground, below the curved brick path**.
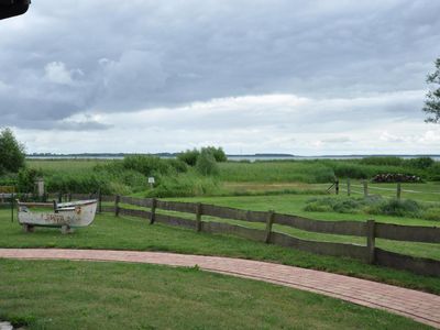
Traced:
[[429, 329], [333, 298], [145, 264], [0, 260], [0, 318], [29, 329]]

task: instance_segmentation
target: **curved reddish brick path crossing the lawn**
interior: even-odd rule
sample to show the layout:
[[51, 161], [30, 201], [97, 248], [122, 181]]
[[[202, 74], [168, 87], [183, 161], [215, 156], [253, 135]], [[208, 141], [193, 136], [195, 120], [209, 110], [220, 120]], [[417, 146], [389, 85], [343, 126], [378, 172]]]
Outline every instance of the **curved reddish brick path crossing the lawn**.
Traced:
[[293, 266], [219, 256], [107, 250], [0, 249], [0, 257], [198, 265], [209, 272], [264, 280], [385, 309], [440, 329], [440, 296]]

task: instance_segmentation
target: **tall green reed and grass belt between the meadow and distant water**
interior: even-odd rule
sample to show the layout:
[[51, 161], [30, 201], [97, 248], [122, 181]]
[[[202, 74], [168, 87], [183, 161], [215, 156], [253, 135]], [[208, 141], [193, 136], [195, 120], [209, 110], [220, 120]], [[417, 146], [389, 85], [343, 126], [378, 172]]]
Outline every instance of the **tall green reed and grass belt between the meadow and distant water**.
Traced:
[[[367, 157], [364, 160], [264, 161], [219, 163], [217, 178], [204, 177], [179, 160], [129, 156], [112, 160], [28, 161], [28, 167], [42, 173], [48, 191], [141, 194], [182, 197], [224, 194], [220, 183], [305, 183], [327, 184], [336, 177], [369, 179], [381, 173], [402, 173], [440, 180], [440, 163], [418, 158]], [[156, 179], [155, 191], [147, 191], [147, 177]], [[26, 177], [26, 176], [23, 176]], [[13, 184], [16, 176], [0, 177], [0, 185]], [[32, 189], [29, 176], [26, 187]], [[142, 194], [141, 194], [142, 195]]]

